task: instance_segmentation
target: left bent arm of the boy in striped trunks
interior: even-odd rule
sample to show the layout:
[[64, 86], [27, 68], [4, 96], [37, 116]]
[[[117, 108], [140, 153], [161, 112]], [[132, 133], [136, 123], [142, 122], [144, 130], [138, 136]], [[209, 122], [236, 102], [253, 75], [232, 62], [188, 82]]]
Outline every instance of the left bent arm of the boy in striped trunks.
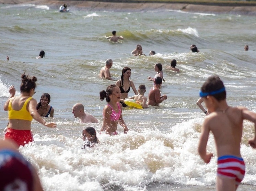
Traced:
[[211, 160], [211, 157], [213, 156], [212, 153], [206, 152], [206, 146], [207, 146], [209, 133], [210, 133], [210, 128], [207, 121], [208, 119], [206, 119], [203, 122], [199, 144], [198, 144], [198, 153], [200, 157], [203, 159], [203, 161], [205, 161], [205, 163], [209, 163]]

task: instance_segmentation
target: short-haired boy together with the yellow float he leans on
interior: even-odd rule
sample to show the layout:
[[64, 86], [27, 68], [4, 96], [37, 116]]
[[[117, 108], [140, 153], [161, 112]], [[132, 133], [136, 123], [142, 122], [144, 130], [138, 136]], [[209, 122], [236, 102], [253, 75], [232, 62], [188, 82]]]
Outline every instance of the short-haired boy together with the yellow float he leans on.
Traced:
[[[125, 101], [125, 104], [126, 105], [131, 105], [131, 106], [134, 106], [134, 107], [137, 107], [137, 108], [139, 108], [139, 109], [144, 109], [144, 108], [148, 108], [149, 106], [146, 104], [147, 103], [147, 97], [146, 96], [144, 96], [144, 93], [146, 92], [146, 86], [145, 85], [143, 85], [143, 84], [141, 84], [140, 86], [139, 86], [139, 89], [138, 89], [138, 92], [139, 92], [139, 94], [138, 95], [134, 95], [134, 96], [132, 96], [132, 97], [128, 97], [128, 98], [126, 98], [124, 101]], [[132, 103], [130, 103], [130, 102], [132, 102], [132, 103], [134, 103], [134, 104], [132, 104]], [[138, 103], [139, 102], [139, 103]], [[137, 104], [137, 105], [135, 105], [135, 104]], [[142, 107], [142, 108], [141, 108]]]

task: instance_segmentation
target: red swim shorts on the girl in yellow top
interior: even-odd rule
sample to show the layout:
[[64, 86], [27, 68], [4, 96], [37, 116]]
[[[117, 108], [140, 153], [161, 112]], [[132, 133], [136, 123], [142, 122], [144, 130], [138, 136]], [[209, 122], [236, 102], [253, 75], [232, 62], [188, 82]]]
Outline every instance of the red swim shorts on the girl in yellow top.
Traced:
[[7, 129], [4, 138], [11, 138], [19, 146], [24, 146], [25, 144], [32, 142], [34, 140], [30, 130], [16, 130], [11, 128]]

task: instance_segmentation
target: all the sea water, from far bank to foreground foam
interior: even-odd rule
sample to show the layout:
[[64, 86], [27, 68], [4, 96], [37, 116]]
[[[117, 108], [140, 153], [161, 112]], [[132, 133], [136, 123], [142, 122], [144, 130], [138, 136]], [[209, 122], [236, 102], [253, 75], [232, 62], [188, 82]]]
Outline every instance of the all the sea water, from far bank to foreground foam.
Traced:
[[[51, 95], [57, 128], [32, 121], [34, 142], [20, 148], [38, 170], [46, 191], [170, 191], [215, 190], [216, 149], [210, 135], [207, 150], [214, 153], [209, 164], [197, 153], [205, 114], [196, 101], [202, 83], [212, 74], [224, 82], [230, 106], [256, 111], [255, 16], [185, 13], [174, 10], [95, 11], [70, 6], [69, 13], [47, 5], [0, 5], [0, 105], [14, 85], [19, 95], [21, 74], [37, 77], [36, 94]], [[105, 39], [116, 30], [125, 39]], [[147, 56], [133, 57], [137, 44]], [[199, 53], [191, 53], [196, 44]], [[244, 45], [249, 51], [244, 51]], [[45, 58], [35, 59], [41, 50]], [[148, 56], [154, 50], [156, 55]], [[7, 61], [6, 57], [10, 60]], [[154, 65], [163, 65], [161, 89], [167, 100], [158, 108], [124, 108], [129, 128], [125, 135], [97, 134], [97, 147], [81, 149], [86, 126], [97, 132], [102, 125], [105, 101], [99, 92], [113, 81], [98, 78], [105, 60], [113, 59], [110, 72], [118, 80], [123, 67], [131, 68], [136, 88], [154, 76]], [[168, 71], [172, 59], [180, 73]], [[133, 92], [129, 92], [132, 96]], [[85, 112], [100, 123], [81, 124], [72, 106], [82, 103]], [[0, 110], [0, 136], [8, 113]], [[237, 190], [255, 190], [256, 150], [247, 144], [254, 136], [253, 123], [244, 122], [241, 153], [246, 175]]]

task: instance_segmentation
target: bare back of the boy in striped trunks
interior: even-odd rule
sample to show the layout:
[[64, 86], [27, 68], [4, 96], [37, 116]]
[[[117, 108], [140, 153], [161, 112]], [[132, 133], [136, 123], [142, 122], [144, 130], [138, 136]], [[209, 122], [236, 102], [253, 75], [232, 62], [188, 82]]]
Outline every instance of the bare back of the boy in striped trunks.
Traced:
[[218, 156], [230, 154], [241, 157], [240, 143], [243, 131], [241, 108], [228, 107], [226, 111], [212, 112], [206, 118], [205, 125], [214, 135]]

